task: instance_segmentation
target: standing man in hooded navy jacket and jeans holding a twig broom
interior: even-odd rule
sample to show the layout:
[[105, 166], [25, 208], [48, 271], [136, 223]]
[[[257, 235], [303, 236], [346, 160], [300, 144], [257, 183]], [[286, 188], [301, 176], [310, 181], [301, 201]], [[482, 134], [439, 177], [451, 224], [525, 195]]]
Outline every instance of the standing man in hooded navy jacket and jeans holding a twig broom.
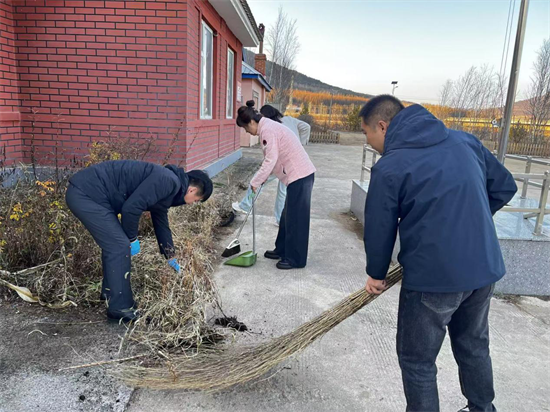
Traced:
[[435, 361], [446, 329], [463, 411], [495, 411], [488, 312], [505, 268], [492, 216], [516, 193], [512, 175], [474, 136], [393, 96], [361, 110], [372, 168], [364, 243], [369, 293], [381, 293], [399, 230], [403, 284], [397, 354], [408, 412], [439, 411]]

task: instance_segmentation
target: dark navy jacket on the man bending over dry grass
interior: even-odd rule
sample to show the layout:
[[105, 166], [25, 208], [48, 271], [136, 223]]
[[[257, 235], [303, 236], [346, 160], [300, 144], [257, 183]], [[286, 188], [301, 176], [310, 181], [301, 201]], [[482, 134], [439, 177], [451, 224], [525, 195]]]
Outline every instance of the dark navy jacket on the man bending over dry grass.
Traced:
[[81, 170], [70, 183], [95, 202], [121, 214], [122, 228], [130, 240], [137, 238], [142, 213], [151, 212], [160, 252], [167, 258], [174, 255], [168, 209], [185, 204], [189, 178], [183, 169], [115, 160]]

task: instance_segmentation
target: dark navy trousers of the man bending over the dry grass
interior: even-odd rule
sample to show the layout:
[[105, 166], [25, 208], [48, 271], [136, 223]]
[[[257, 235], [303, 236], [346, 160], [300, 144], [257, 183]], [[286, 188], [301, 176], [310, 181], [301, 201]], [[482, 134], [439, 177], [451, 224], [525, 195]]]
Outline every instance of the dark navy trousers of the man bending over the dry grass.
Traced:
[[71, 212], [88, 229], [102, 251], [103, 286], [109, 311], [134, 306], [130, 286], [130, 240], [122, 229], [116, 213], [92, 200], [73, 185], [66, 195]]

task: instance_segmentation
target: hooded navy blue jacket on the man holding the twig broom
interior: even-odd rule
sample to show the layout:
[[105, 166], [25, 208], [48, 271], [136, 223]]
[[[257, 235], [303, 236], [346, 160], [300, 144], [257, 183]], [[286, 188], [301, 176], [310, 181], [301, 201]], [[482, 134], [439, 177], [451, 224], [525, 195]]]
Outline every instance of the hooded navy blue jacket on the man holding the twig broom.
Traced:
[[475, 136], [447, 129], [420, 105], [407, 107], [391, 121], [372, 168], [368, 275], [385, 278], [399, 228], [405, 288], [463, 292], [496, 282], [505, 268], [492, 215], [516, 191], [510, 172]]

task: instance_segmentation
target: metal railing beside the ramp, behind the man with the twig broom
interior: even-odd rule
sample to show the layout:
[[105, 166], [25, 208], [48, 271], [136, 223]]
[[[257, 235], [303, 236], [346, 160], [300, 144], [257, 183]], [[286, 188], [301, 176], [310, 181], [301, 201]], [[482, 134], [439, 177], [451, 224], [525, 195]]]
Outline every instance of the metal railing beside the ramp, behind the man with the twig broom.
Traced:
[[[367, 162], [367, 153], [372, 153], [372, 162], [370, 167], [366, 165]], [[361, 182], [365, 180], [365, 172], [371, 173], [373, 166], [376, 163], [378, 152], [368, 145], [363, 145], [363, 162], [361, 164]], [[512, 176], [515, 180], [523, 182], [521, 190], [521, 198], [525, 199], [527, 197], [527, 189], [529, 186], [537, 187], [541, 189], [539, 204], [538, 207], [513, 207], [513, 206], [504, 206], [501, 210], [503, 212], [510, 213], [524, 213], [523, 218], [529, 219], [536, 217], [535, 230], [533, 233], [535, 235], [542, 234], [542, 225], [544, 223], [544, 217], [547, 214], [550, 214], [550, 209], [546, 208], [548, 203], [548, 193], [550, 191], [550, 170], [547, 170], [544, 173], [531, 173], [531, 165], [538, 164], [543, 166], [550, 166], [550, 162], [546, 160], [534, 159], [532, 156], [517, 156], [517, 155], [506, 155], [507, 159], [521, 160], [527, 162], [525, 165], [525, 173], [512, 173]], [[541, 180], [541, 183], [533, 182], [533, 180]]]

